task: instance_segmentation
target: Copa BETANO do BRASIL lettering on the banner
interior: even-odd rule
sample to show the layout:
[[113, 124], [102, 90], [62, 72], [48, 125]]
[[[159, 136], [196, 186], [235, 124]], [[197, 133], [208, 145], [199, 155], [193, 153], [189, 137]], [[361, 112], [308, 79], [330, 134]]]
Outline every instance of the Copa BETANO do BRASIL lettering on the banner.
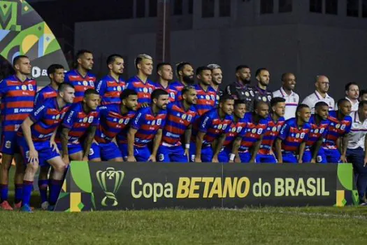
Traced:
[[180, 177], [174, 193], [173, 183], [143, 183], [140, 178], [131, 181], [131, 195], [138, 198], [245, 198], [253, 197], [315, 197], [329, 196], [325, 178], [274, 178], [272, 183], [261, 178], [248, 177]]

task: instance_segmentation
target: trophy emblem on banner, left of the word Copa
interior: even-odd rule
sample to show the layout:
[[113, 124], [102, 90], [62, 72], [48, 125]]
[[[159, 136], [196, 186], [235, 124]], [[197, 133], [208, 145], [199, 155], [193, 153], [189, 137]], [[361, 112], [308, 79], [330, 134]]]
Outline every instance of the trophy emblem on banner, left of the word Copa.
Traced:
[[[123, 171], [121, 170], [115, 171], [113, 167], [108, 167], [106, 168], [105, 171], [99, 170], [96, 172], [96, 177], [99, 182], [99, 186], [101, 186], [103, 192], [106, 194], [106, 197], [103, 197], [101, 201], [102, 206], [104, 207], [108, 206], [107, 200], [113, 201], [113, 204], [112, 204], [113, 207], [118, 205], [117, 198], [115, 195], [117, 191], [119, 190], [122, 184], [122, 181], [124, 180], [124, 176], [125, 174]], [[108, 185], [106, 184], [107, 181], [115, 182], [113, 186], [113, 190], [108, 190], [107, 188]]]

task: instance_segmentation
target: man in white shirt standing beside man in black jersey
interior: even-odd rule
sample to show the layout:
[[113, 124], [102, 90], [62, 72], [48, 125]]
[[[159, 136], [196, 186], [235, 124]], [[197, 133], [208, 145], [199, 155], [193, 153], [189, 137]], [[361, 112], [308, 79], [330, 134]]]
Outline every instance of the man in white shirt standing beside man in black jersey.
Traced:
[[299, 103], [299, 96], [293, 92], [296, 87], [296, 76], [293, 73], [282, 74], [282, 87], [273, 92], [273, 97], [282, 97], [285, 99], [285, 120], [294, 118]]

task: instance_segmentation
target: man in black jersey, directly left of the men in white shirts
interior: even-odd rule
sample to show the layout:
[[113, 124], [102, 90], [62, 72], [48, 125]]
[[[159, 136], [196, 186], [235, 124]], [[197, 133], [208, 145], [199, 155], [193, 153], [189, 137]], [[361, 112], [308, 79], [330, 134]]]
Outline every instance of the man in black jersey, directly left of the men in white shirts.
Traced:
[[267, 90], [270, 81], [270, 73], [266, 68], [259, 68], [255, 73], [257, 85], [254, 86], [255, 102], [266, 102], [270, 108], [273, 93]]

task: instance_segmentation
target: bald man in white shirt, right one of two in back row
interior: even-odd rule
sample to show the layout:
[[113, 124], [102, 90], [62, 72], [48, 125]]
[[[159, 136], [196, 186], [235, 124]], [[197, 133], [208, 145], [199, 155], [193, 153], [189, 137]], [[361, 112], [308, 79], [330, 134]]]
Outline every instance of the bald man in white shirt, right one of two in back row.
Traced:
[[326, 102], [329, 105], [329, 111], [332, 111], [335, 106], [334, 99], [327, 94], [329, 91], [329, 78], [326, 76], [316, 76], [315, 87], [316, 90], [312, 94], [303, 99], [302, 104], [310, 106], [311, 113], [315, 112], [315, 104], [317, 102]]

